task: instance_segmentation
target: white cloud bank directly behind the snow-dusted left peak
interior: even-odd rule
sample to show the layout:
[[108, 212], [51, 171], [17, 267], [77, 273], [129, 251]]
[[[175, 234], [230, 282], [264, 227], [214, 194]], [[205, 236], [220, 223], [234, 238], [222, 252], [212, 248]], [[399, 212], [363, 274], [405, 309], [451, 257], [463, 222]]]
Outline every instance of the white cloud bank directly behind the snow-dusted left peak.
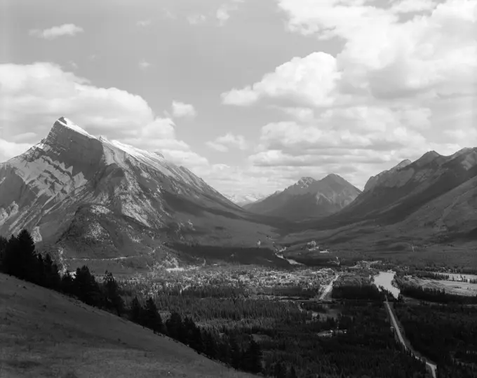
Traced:
[[173, 121], [156, 116], [139, 95], [93, 86], [52, 63], [0, 65], [0, 102], [4, 105], [0, 114], [2, 159], [39, 142], [37, 135], [46, 136], [59, 116], [67, 116], [88, 133], [149, 151], [159, 149], [166, 158], [189, 168], [208, 164], [177, 139]]

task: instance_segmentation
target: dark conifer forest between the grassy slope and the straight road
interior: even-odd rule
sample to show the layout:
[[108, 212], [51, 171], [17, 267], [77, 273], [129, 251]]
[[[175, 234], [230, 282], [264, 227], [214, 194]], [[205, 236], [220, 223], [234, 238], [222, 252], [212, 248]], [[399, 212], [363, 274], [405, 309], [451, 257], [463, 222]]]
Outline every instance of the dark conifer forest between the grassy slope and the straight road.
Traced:
[[[337, 316], [311, 319], [293, 301], [250, 299], [236, 288], [149, 295], [140, 286], [121, 287], [107, 272], [99, 281], [87, 266], [61, 276], [27, 231], [0, 238], [0, 264], [6, 274], [116, 313], [236, 369], [283, 378], [426, 377], [424, 363], [394, 339], [385, 294], [372, 285], [338, 290]], [[345, 299], [349, 290], [365, 300]]]

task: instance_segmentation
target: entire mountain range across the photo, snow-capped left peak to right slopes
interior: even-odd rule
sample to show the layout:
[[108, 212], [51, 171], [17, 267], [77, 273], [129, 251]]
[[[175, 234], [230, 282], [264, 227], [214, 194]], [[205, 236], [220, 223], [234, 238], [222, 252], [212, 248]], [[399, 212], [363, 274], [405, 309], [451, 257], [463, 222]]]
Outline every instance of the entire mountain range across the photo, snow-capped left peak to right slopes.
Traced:
[[368, 235], [382, 230], [475, 241], [477, 148], [402, 161], [362, 192], [331, 174], [260, 197], [227, 198], [158, 152], [95, 137], [61, 117], [39, 144], [0, 163], [0, 234], [27, 228], [65, 265], [95, 261], [103, 271], [176, 264], [189, 258], [177, 243], [189, 252], [197, 244], [271, 247], [305, 231], [372, 248]]

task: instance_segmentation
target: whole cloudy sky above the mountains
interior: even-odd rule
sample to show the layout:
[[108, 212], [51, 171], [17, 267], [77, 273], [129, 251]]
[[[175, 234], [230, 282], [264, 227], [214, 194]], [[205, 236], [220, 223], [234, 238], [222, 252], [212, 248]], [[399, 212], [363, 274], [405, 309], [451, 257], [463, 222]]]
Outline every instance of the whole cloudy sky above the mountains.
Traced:
[[66, 116], [227, 195], [477, 147], [477, 0], [0, 0], [0, 161]]

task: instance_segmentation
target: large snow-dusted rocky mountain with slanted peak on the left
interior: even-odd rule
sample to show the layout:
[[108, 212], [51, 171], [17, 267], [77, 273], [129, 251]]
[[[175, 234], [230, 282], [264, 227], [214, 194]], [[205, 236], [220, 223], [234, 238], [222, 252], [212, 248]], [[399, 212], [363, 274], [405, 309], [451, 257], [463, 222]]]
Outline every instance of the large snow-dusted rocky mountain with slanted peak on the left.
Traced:
[[271, 231], [249, 218], [187, 168], [64, 117], [0, 163], [0, 234], [27, 228], [69, 262], [150, 260], [174, 241], [255, 245]]

